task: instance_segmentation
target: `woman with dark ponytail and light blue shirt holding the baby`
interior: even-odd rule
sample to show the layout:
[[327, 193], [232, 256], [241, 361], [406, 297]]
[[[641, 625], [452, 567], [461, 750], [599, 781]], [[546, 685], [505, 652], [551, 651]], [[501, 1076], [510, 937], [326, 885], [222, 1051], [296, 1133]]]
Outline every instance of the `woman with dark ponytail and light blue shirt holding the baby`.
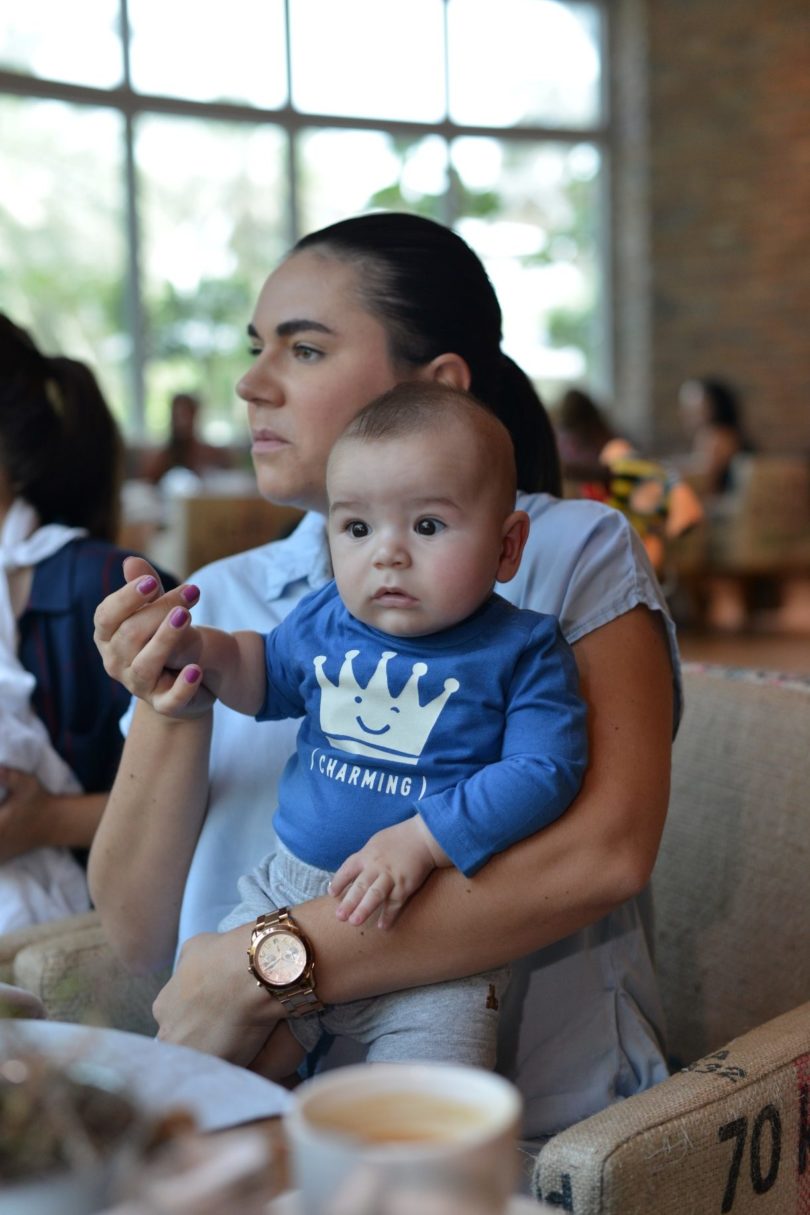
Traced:
[[[550, 425], [500, 351], [492, 286], [448, 228], [374, 214], [305, 237], [265, 283], [249, 333], [255, 363], [238, 391], [259, 487], [310, 514], [288, 541], [203, 572], [200, 623], [270, 628], [328, 578], [319, 514], [328, 452], [362, 406], [400, 380], [470, 388], [511, 430], [521, 487], [559, 492]], [[678, 663], [661, 592], [618, 512], [549, 493], [519, 505], [532, 529], [521, 572], [503, 589], [559, 615], [573, 644], [590, 710], [583, 791], [556, 824], [472, 881], [434, 875], [396, 931], [341, 923], [328, 898], [294, 915], [315, 946], [317, 994], [330, 1002], [542, 950], [516, 967], [500, 1059], [523, 1089], [527, 1135], [539, 1137], [665, 1073], [634, 897], [665, 815]], [[155, 1002], [160, 1035], [248, 1064], [283, 1010], [247, 974], [251, 926], [210, 929], [234, 902], [236, 876], [272, 848], [267, 820], [291, 731], [282, 724], [268, 755], [268, 725], [257, 735], [220, 706], [194, 720], [159, 717], [148, 700], [172, 678], [163, 669], [171, 614], [180, 608], [175, 618], [185, 618], [197, 589], [160, 595], [141, 563], [128, 563], [126, 576], [100, 606], [96, 633], [107, 669], [141, 700], [92, 849], [91, 887], [130, 965], [164, 965], [177, 936], [185, 940]]]

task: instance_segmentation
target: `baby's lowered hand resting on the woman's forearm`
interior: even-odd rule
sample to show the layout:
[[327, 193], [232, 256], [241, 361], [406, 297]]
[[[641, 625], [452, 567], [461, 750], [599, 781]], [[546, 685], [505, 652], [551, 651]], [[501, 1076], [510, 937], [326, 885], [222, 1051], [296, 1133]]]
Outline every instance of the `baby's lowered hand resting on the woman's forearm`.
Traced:
[[340, 899], [338, 919], [361, 925], [380, 908], [378, 927], [390, 928], [427, 875], [449, 864], [418, 814], [384, 827], [347, 857], [333, 877], [329, 893]]

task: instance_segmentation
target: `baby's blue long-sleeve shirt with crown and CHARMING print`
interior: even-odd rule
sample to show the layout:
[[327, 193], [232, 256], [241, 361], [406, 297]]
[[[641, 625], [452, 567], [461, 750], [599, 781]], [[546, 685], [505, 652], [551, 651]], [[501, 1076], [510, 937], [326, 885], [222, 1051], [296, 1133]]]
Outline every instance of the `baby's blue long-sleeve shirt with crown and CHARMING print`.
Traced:
[[334, 582], [267, 634], [257, 719], [304, 717], [276, 831], [334, 870], [375, 831], [421, 814], [472, 874], [554, 821], [588, 758], [577, 667], [556, 617], [498, 595], [427, 637], [355, 620]]

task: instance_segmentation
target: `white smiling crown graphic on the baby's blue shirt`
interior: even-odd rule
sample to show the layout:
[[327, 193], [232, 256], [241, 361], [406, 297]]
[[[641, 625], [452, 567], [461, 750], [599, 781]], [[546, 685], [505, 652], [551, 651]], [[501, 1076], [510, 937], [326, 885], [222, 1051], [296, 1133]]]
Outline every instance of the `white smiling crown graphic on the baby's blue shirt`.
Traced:
[[363, 688], [355, 676], [359, 650], [347, 650], [333, 684], [325, 674], [324, 655], [313, 659], [321, 688], [321, 729], [333, 747], [352, 755], [385, 757], [415, 764], [444, 705], [459, 689], [458, 679], [446, 679], [443, 690], [427, 705], [419, 703], [419, 680], [427, 673], [426, 662], [414, 662], [410, 678], [398, 696], [389, 688], [387, 666], [395, 650], [384, 650], [376, 669]]

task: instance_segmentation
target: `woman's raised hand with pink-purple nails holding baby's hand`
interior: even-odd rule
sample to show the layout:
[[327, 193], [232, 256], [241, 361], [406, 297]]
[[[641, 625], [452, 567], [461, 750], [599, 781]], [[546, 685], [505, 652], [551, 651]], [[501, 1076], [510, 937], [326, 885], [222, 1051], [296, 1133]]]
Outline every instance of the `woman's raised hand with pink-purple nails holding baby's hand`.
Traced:
[[[140, 556], [124, 561], [126, 586], [96, 609], [94, 639], [107, 674], [166, 716], [199, 717], [214, 697], [199, 686], [199, 668], [172, 666], [179, 631], [199, 599], [191, 583], [164, 592], [157, 571]], [[180, 669], [177, 668], [180, 666]]]

